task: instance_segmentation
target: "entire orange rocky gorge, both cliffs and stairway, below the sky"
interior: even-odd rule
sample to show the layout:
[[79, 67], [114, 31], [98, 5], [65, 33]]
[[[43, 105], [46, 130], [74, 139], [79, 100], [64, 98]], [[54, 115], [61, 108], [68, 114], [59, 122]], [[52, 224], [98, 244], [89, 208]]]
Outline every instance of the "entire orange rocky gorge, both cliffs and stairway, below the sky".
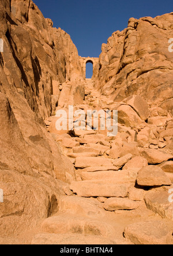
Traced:
[[[173, 13], [130, 18], [92, 79], [50, 18], [0, 2], [0, 244], [173, 244]], [[118, 110], [117, 135], [58, 131], [69, 106]]]

